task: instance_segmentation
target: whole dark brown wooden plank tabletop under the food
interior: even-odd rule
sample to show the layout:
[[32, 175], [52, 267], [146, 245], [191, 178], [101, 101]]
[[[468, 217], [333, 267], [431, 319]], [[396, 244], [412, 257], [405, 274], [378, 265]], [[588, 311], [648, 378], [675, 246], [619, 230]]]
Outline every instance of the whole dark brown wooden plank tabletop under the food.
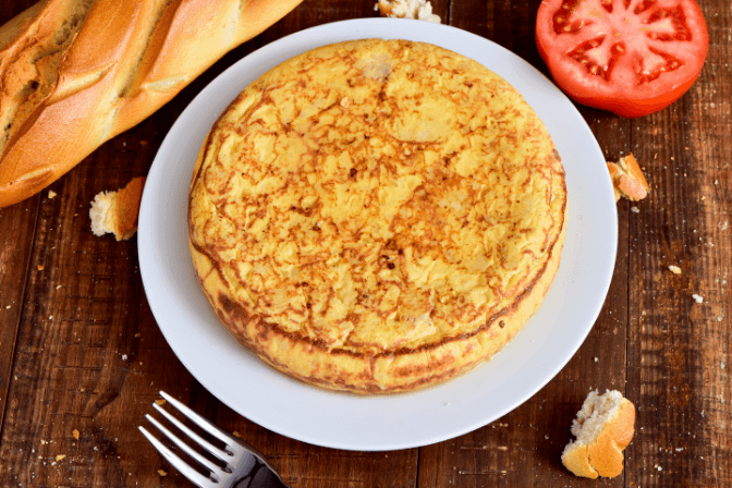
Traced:
[[[0, 24], [32, 3], [3, 0]], [[534, 42], [539, 3], [432, 2], [443, 23], [548, 73]], [[652, 191], [618, 204], [605, 307], [572, 361], [526, 403], [418, 449], [352, 452], [285, 438], [221, 404], [175, 357], [145, 297], [136, 239], [91, 234], [89, 202], [145, 175], [175, 118], [218, 73], [288, 34], [376, 15], [374, 0], [306, 0], [53, 183], [54, 198], [46, 190], [0, 209], [0, 486], [193, 486], [136, 429], [160, 389], [258, 447], [293, 488], [732, 486], [732, 10], [729, 0], [700, 3], [711, 45], [683, 98], [635, 120], [578, 106], [606, 157], [635, 154]], [[637, 406], [613, 479], [576, 478], [560, 461], [590, 389], [618, 389]]]

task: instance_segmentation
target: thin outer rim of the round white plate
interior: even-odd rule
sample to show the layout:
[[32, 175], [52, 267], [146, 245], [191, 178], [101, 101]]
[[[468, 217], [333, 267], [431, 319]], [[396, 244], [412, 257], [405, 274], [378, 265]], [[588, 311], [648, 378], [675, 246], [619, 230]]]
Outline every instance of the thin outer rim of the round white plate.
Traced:
[[[285, 50], [292, 50], [292, 46], [301, 47], [302, 46], [302, 51], [304, 52], [308, 49], [312, 49], [313, 46], [309, 46], [307, 40], [308, 37], [315, 36], [317, 39], [322, 39], [324, 41], [320, 45], [326, 45], [326, 44], [331, 44], [339, 40], [347, 40], [347, 39], [358, 39], [358, 38], [368, 38], [368, 37], [386, 37], [386, 36], [375, 36], [373, 34], [368, 34], [375, 30], [393, 30], [393, 32], [399, 32], [399, 29], [394, 28], [394, 25], [401, 24], [405, 28], [408, 27], [410, 30], [410, 36], [414, 37], [415, 30], [419, 32], [439, 32], [443, 30], [443, 33], [450, 33], [452, 35], [455, 35], [457, 37], [462, 37], [466, 40], [473, 40], [477, 44], [485, 44], [488, 42], [493, 49], [498, 49], [499, 51], [503, 51], [503, 54], [507, 56], [511, 61], [515, 62], [521, 69], [526, 70], [528, 69], [534, 75], [538, 74], [541, 78], [544, 78], [544, 82], [548, 82], [551, 87], [553, 87], [553, 90], [557, 93], [553, 94], [554, 96], [561, 96], [563, 97], [563, 100], [568, 105], [568, 109], [573, 112], [572, 115], [581, 121], [581, 125], [584, 125], [583, 129], [586, 129], [587, 132], [589, 133], [589, 138], [595, 144], [595, 149], [596, 152], [599, 154], [601, 157], [602, 154], [600, 151], [599, 145], [597, 144], [597, 141], [595, 141], [594, 136], [591, 135], [591, 131], [589, 130], [589, 126], [587, 125], [586, 121], [584, 118], [580, 114], [580, 112], [576, 110], [574, 105], [553, 85], [553, 83], [548, 80], [542, 73], [540, 73], [536, 68], [530, 65], [528, 62], [525, 60], [521, 59], [510, 50], [497, 45], [496, 42], [486, 39], [484, 37], [477, 36], [475, 34], [462, 30], [456, 27], [448, 26], [448, 25], [442, 25], [442, 24], [429, 24], [425, 23], [422, 21], [406, 21], [406, 20], [396, 20], [396, 19], [356, 19], [356, 20], [347, 20], [347, 21], [339, 21], [339, 22], [333, 22], [333, 23], [328, 23], [328, 24], [322, 24], [318, 25], [315, 27], [310, 27], [304, 30], [300, 30], [293, 34], [290, 34], [285, 37], [282, 37], [280, 39], [277, 39], [259, 49], [256, 51], [253, 51], [245, 56], [244, 58], [240, 59], [235, 63], [233, 63], [231, 66], [229, 66], [227, 70], [224, 70], [220, 75], [218, 75], [213, 81], [211, 81], [209, 84], [206, 85], [197, 95], [196, 97], [188, 103], [188, 106], [185, 108], [185, 110], [181, 113], [181, 115], [178, 118], [175, 123], [172, 125], [170, 129], [169, 133], [166, 135], [162, 144], [160, 145], [160, 148], [158, 149], [158, 152], [155, 157], [155, 160], [152, 162], [152, 166], [150, 167], [150, 171], [148, 174], [148, 182], [151, 182], [152, 184], [148, 185], [146, 184], [145, 192], [143, 194], [143, 199], [141, 204], [141, 216], [139, 216], [139, 230], [138, 230], [138, 257], [139, 257], [139, 265], [141, 265], [141, 277], [143, 280], [143, 285], [145, 289], [146, 296], [148, 298], [148, 303], [150, 305], [150, 309], [152, 312], [152, 315], [156, 318], [156, 322], [158, 324], [158, 327], [160, 328], [160, 331], [162, 332], [163, 337], [168, 341], [168, 344], [171, 346], [173, 350], [173, 353], [176, 355], [176, 357], [181, 361], [181, 363], [184, 365], [184, 367], [194, 376], [194, 378], [200, 382], [204, 388], [206, 388], [208, 391], [210, 391], [215, 396], [217, 396], [220, 401], [222, 401], [224, 404], [227, 404], [229, 407], [231, 407], [233, 411], [237, 412], [239, 414], [245, 416], [246, 418], [249, 418], [252, 422], [268, 428], [272, 431], [276, 431], [278, 434], [281, 434], [283, 436], [301, 440], [304, 442], [317, 444], [317, 446], [322, 446], [322, 447], [328, 447], [328, 448], [334, 448], [334, 449], [345, 449], [345, 450], [361, 450], [361, 451], [382, 451], [382, 450], [394, 450], [394, 449], [407, 449], [407, 448], [416, 448], [416, 447], [422, 447], [422, 446], [428, 446], [435, 442], [440, 442], [443, 440], [448, 440], [461, 435], [464, 435], [466, 432], [469, 432], [472, 430], [475, 430], [476, 428], [479, 428], [490, 422], [493, 422], [507, 413], [513, 411], [514, 408], [518, 407], [521, 404], [526, 402], [528, 399], [530, 399], [533, 395], [535, 395], [541, 388], [544, 388], [551, 379], [553, 379], [557, 374], [569, 363], [569, 361], [575, 355], [576, 351], [580, 349], [584, 340], [586, 339], [587, 334], [594, 327], [595, 321], [597, 320], [597, 316], [600, 313], [602, 303], [605, 302], [607, 297], [607, 293], [610, 288], [610, 283], [612, 280], [613, 276], [613, 268], [614, 268], [614, 263], [617, 259], [617, 245], [618, 245], [618, 215], [617, 215], [617, 207], [614, 205], [614, 198], [612, 200], [612, 219], [614, 220], [613, 222], [605, 222], [607, 227], [610, 228], [610, 234], [612, 241], [612, 246], [610, 246], [612, 249], [610, 252], [610, 255], [608, 256], [608, 261], [606, 264], [606, 268], [609, 267], [609, 272], [606, 272], [605, 276], [602, 277], [601, 282], [599, 283], [599, 289], [600, 289], [600, 295], [601, 300], [599, 301], [599, 304], [595, 304], [595, 309], [590, 310], [589, 315], [591, 316], [591, 320], [589, 320], [588, 326], [586, 326], [582, 333], [577, 337], [574, 338], [574, 341], [572, 344], [570, 344], [565, 351], [566, 357], [563, 361], [559, 361], [558, 363], [553, 364], [549, 373], [544, 374], [546, 376], [546, 380], [539, 381], [539, 382], [534, 382], [532, 385], [532, 388], [528, 388], [525, 392], [524, 395], [522, 395], [518, 399], [514, 399], [514, 401], [510, 405], [504, 405], [502, 408], [497, 408], [493, 414], [488, 418], [488, 416], [485, 416], [485, 418], [479, 418], [479, 419], [473, 419], [473, 422], [469, 423], [464, 423], [461, 428], [452, 428], [449, 432], [441, 431], [440, 434], [435, 434], [435, 435], [428, 435], [425, 432], [419, 432], [415, 434], [414, 436], [410, 437], [408, 435], [406, 437], [402, 436], [401, 440], [399, 441], [374, 441], [374, 440], [356, 440], [356, 439], [351, 439], [351, 440], [345, 440], [342, 438], [333, 437], [332, 435], [329, 436], [322, 436], [322, 435], [314, 435], [314, 434], [308, 434], [307, 431], [293, 431], [292, 429], [288, 428], [282, 428], [281, 425], [278, 424], [277, 420], [272, 422], [271, 418], [266, 418], [263, 417], [261, 415], [257, 415], [256, 413], [253, 413], [251, 411], [246, 411], [246, 408], [243, 408], [241, 404], [239, 404], [235, 400], [233, 400], [231, 394], [227, 393], [225, 386], [221, 385], [218, 381], [212, 381], [209, 377], [204, 375], [199, 367], [196, 366], [193, 362], [192, 358], [190, 357], [183, 357], [181, 354], [179, 354], [179, 351], [176, 350], [176, 346], [179, 345], [179, 342], [176, 338], [174, 338], [174, 334], [171, 333], [171, 330], [168, 325], [163, 326], [162, 324], [166, 322], [164, 317], [166, 312], [160, 308], [161, 305], [156, 301], [156, 293], [154, 292], [154, 277], [152, 277], [152, 268], [155, 264], [154, 256], [150, 254], [152, 253], [152, 244], [151, 242], [155, 240], [155, 232], [152, 231], [151, 225], [151, 215], [155, 212], [155, 207], [152, 202], [155, 202], [155, 196], [151, 194], [154, 188], [157, 188], [155, 186], [156, 184], [156, 179], [159, 178], [159, 173], [163, 171], [164, 168], [164, 157], [168, 154], [168, 148], [174, 144], [174, 138], [175, 136], [183, 131], [181, 129], [186, 121], [191, 119], [191, 112], [192, 110], [195, 110], [199, 105], [200, 100], [205, 99], [205, 96], [208, 95], [208, 93], [212, 89], [216, 89], [218, 84], [220, 84], [221, 80], [225, 78], [227, 76], [231, 76], [232, 73], [236, 72], [237, 70], [241, 69], [242, 65], [245, 65], [246, 63], [252, 63], [252, 62], [257, 62], [260, 58], [267, 58], [271, 54], [277, 54], [278, 52], [281, 51], [281, 49]], [[347, 38], [340, 38], [339, 36], [343, 37], [344, 35], [341, 33], [342, 30], [347, 30], [351, 33]], [[390, 38], [401, 38], [404, 36], [391, 36]], [[439, 36], [437, 36], [436, 39], [430, 40], [430, 42], [436, 44], [438, 46], [442, 46], [444, 42], [440, 42]], [[310, 41], [312, 42], [312, 41]], [[448, 48], [450, 49], [450, 48]], [[453, 49], [454, 50], [454, 49]], [[460, 52], [460, 51], [459, 51]], [[294, 56], [295, 53], [291, 53], [291, 56]], [[488, 69], [491, 69], [490, 65], [487, 66]], [[267, 70], [264, 70], [267, 71]], [[263, 73], [264, 73], [263, 71]], [[503, 74], [499, 73], [499, 75], [505, 77]], [[239, 94], [241, 89], [236, 90], [236, 94]], [[522, 93], [522, 95], [527, 97], [527, 94]], [[234, 95], [235, 96], [235, 95]], [[227, 105], [233, 99], [231, 97]], [[210, 115], [210, 114], [209, 114]], [[218, 118], [218, 115], [217, 115]], [[549, 124], [547, 124], [549, 126]], [[208, 131], [206, 131], [208, 132]], [[596, 155], [597, 156], [597, 155]], [[591, 159], [591, 158], [590, 158]], [[168, 164], [170, 164], [168, 162]], [[569, 190], [569, 185], [568, 185]], [[187, 187], [186, 192], [187, 194]], [[607, 178], [607, 181], [602, 184], [601, 193], [605, 193], [606, 195], [603, 196], [607, 198], [611, 197], [612, 188], [611, 188], [611, 183], [609, 180], [609, 176]], [[569, 207], [569, 206], [568, 206]], [[572, 208], [569, 208], [569, 211], [572, 212]], [[572, 213], [570, 213], [571, 216]], [[570, 219], [568, 219], [569, 222]], [[614, 225], [612, 224], [614, 223]], [[568, 233], [570, 230], [568, 230]], [[562, 259], [564, 260], [565, 256], [562, 256]], [[560, 266], [560, 271], [561, 271], [561, 266]], [[550, 289], [551, 293], [551, 289]], [[536, 314], [535, 314], [536, 315]], [[521, 334], [520, 334], [521, 335]], [[517, 338], [512, 340], [509, 343], [509, 346], [516, 341]], [[569, 352], [571, 350], [571, 353]], [[467, 373], [466, 375], [469, 375], [471, 373]], [[294, 381], [294, 380], [293, 380]], [[454, 380], [453, 380], [454, 381]], [[434, 387], [432, 389], [439, 389], [441, 388], [440, 386]], [[425, 390], [420, 390], [425, 391]], [[410, 396], [410, 395], [419, 395], [420, 391], [414, 392], [414, 393], [400, 393], [396, 395], [393, 395], [392, 398], [404, 398], [404, 396]], [[332, 393], [332, 392], [327, 392], [327, 391], [319, 391], [319, 394], [322, 395], [332, 395], [332, 394], [340, 394], [340, 393]], [[383, 399], [385, 396], [378, 396], [379, 399]], [[364, 401], [369, 401], [366, 398]], [[399, 401], [396, 402], [399, 403]], [[244, 411], [244, 412], [243, 412]], [[410, 440], [411, 439], [411, 440]]]

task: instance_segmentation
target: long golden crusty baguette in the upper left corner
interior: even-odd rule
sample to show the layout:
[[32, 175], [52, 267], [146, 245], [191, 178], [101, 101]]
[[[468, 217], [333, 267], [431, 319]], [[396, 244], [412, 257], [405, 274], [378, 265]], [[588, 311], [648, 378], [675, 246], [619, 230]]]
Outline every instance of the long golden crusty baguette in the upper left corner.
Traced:
[[0, 208], [59, 179], [302, 0], [42, 0], [0, 27]]

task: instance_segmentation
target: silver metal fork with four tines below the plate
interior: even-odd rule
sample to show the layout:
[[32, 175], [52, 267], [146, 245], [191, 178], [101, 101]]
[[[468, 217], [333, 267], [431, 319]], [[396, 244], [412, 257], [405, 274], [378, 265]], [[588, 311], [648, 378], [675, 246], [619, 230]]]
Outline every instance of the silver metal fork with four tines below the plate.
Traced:
[[224, 466], [221, 467], [217, 465], [217, 463], [200, 455], [196, 450], [183, 442], [151, 415], [145, 415], [145, 417], [168, 439], [210, 473], [209, 476], [204, 476], [197, 469], [191, 467], [185, 461], [180, 459], [166, 444], [156, 439], [147, 431], [147, 429], [145, 429], [145, 427], [139, 426], [139, 430], [147, 437], [147, 440], [152, 442], [152, 446], [155, 446], [158, 452], [191, 481], [195, 483], [200, 488], [288, 488], [288, 486], [280, 479], [280, 475], [255, 448], [221, 430], [219, 427], [211, 424], [164, 391], [161, 391], [160, 394], [168, 403], [178, 408], [194, 424], [222, 441], [225, 446], [224, 449], [219, 449], [216, 446], [212, 446], [186, 427], [178, 418], [166, 412], [160, 405], [152, 403], [155, 410], [160, 412], [160, 414], [170, 420], [171, 424], [181, 429], [185, 435], [198, 443], [198, 446], [210, 452], [224, 464]]

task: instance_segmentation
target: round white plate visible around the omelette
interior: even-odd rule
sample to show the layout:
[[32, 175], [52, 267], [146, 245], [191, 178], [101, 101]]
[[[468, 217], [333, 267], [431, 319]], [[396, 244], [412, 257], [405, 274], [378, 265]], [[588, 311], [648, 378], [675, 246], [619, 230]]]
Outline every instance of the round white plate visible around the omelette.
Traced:
[[[442, 46], [483, 63], [515, 86], [544, 120], [566, 170], [569, 227], [561, 267], [539, 310], [490, 363], [442, 386], [390, 396], [308, 387], [276, 373], [220, 325], [196, 280], [187, 247], [186, 199], [203, 139], [229, 102], [270, 68], [306, 50], [349, 39], [400, 37]], [[544, 387], [580, 347], [612, 277], [618, 216], [605, 158], [568, 98], [502, 47], [427, 22], [363, 19], [279, 39], [231, 66], [186, 108], [150, 169], [138, 247], [150, 307], [193, 376], [251, 420], [313, 444], [351, 450], [426, 446], [505, 415]]]

